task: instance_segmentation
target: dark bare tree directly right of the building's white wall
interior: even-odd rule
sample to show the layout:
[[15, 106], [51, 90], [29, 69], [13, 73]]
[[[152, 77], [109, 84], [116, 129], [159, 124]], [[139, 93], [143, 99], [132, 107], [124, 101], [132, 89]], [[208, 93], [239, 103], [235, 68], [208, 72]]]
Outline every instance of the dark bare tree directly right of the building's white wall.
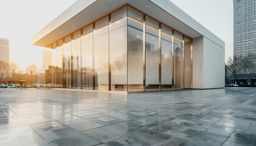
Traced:
[[236, 83], [236, 75], [244, 72], [244, 58], [242, 56], [234, 56], [227, 61], [227, 72], [234, 75]]

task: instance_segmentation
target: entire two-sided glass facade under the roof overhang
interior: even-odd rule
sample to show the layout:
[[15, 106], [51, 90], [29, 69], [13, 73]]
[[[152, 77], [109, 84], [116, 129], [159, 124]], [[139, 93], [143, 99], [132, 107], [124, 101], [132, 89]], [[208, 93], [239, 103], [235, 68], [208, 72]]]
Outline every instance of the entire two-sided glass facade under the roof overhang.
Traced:
[[184, 89], [191, 46], [187, 36], [126, 5], [46, 47], [46, 83], [101, 91]]

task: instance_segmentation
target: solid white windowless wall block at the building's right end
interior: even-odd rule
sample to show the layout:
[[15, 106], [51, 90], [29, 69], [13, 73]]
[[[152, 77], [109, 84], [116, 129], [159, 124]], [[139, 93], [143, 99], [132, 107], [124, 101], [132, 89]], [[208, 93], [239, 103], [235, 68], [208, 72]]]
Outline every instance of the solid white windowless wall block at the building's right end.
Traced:
[[225, 50], [208, 40], [193, 39], [193, 88], [224, 88]]

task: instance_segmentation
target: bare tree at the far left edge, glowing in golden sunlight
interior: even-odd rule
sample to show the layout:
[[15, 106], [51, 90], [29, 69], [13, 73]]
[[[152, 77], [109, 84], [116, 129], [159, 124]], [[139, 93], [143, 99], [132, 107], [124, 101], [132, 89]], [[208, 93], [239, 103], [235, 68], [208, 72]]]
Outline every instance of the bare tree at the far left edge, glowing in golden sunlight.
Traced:
[[0, 60], [0, 79], [6, 81], [11, 78], [12, 74], [17, 71], [16, 63], [5, 63]]

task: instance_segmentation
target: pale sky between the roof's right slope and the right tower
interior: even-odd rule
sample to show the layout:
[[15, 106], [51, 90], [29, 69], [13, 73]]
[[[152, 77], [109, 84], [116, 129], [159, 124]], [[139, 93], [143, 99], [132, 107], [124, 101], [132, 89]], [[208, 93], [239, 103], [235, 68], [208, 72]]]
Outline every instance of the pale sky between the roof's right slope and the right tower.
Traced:
[[225, 42], [225, 61], [233, 57], [233, 0], [170, 0]]

